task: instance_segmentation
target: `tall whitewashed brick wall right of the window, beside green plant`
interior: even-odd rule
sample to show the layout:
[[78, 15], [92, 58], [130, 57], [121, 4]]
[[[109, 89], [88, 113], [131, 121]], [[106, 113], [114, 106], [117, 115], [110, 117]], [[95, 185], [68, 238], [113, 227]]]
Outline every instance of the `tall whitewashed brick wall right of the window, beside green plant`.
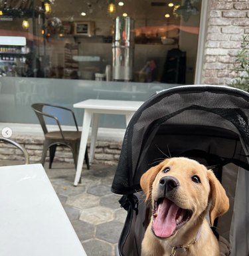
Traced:
[[203, 66], [204, 84], [229, 84], [242, 35], [249, 33], [248, 0], [211, 0]]

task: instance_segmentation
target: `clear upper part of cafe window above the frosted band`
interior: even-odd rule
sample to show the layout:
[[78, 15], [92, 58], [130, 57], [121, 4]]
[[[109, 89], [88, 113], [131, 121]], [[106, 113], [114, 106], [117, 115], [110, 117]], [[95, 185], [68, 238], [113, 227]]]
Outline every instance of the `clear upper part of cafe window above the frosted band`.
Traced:
[[201, 0], [0, 1], [0, 76], [193, 84]]

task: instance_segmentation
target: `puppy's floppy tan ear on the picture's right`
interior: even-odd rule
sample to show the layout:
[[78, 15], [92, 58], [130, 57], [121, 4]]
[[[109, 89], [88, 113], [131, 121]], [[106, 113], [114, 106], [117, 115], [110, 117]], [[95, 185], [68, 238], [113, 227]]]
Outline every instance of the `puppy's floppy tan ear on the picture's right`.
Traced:
[[211, 225], [214, 225], [214, 219], [228, 211], [229, 199], [224, 188], [215, 177], [212, 170], [208, 170], [208, 180], [210, 184], [210, 196], [212, 197], [212, 205], [210, 207], [209, 216]]

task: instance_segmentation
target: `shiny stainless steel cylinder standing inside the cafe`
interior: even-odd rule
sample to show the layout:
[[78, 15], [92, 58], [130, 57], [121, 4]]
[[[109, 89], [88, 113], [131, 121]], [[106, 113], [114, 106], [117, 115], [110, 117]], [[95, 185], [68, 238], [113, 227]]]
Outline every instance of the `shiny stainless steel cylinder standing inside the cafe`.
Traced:
[[112, 43], [112, 79], [132, 80], [134, 56], [134, 21], [130, 17], [116, 17]]

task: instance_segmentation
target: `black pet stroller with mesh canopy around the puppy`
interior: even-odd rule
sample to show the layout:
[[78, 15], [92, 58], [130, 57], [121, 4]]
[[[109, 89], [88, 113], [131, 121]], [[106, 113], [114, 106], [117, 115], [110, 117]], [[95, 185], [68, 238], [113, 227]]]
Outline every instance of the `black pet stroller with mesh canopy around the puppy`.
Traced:
[[112, 192], [127, 210], [118, 256], [139, 256], [145, 229], [141, 175], [167, 156], [211, 167], [230, 199], [216, 231], [230, 253], [249, 255], [249, 93], [227, 86], [179, 86], [145, 102], [127, 126]]

